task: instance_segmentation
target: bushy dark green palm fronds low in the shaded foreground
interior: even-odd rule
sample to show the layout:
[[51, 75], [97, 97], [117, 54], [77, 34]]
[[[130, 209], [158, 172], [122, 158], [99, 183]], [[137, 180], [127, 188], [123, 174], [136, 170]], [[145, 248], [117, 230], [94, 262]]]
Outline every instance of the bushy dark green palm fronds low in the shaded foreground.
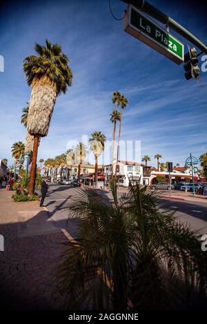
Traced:
[[[207, 256], [199, 235], [139, 184], [113, 202], [77, 190], [70, 218], [79, 220], [59, 267], [70, 309], [135, 310], [204, 307]], [[77, 220], [76, 220], [77, 221]]]

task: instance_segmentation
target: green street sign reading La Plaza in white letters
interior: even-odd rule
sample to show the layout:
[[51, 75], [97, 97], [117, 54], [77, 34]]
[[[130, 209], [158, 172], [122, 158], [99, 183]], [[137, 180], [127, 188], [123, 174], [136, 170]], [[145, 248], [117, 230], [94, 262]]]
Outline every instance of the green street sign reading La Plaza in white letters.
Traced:
[[184, 61], [184, 44], [131, 5], [124, 17], [124, 30], [175, 63]]

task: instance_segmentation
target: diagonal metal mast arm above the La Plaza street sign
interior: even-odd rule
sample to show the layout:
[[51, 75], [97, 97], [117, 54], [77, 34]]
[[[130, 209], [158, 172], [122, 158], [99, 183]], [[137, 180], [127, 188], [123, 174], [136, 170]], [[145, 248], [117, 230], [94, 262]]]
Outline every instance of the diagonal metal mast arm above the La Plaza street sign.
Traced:
[[121, 0], [121, 1], [131, 4], [138, 10], [145, 12], [146, 14], [157, 19], [161, 23], [164, 23], [164, 25], [168, 26], [168, 28], [172, 28], [172, 30], [175, 30], [175, 32], [178, 32], [185, 39], [188, 39], [188, 41], [190, 41], [190, 43], [193, 43], [195, 46], [197, 46], [197, 48], [199, 48], [201, 51], [203, 51], [207, 54], [207, 46], [204, 43], [199, 41], [199, 39], [197, 39], [197, 37], [195, 37], [193, 34], [188, 32], [188, 30], [186, 30], [186, 28], [179, 25], [179, 23], [177, 23], [175, 20], [170, 18], [167, 14], [164, 14], [164, 12], [161, 12], [159, 9], [152, 6], [147, 1], [145, 1], [145, 0]]

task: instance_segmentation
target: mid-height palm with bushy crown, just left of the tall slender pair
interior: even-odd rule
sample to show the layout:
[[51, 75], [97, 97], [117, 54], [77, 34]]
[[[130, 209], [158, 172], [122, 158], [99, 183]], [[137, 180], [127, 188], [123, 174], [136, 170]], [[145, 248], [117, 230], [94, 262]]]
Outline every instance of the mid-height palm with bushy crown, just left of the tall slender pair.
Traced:
[[99, 131], [93, 132], [90, 136], [90, 150], [92, 150], [93, 154], [95, 155], [95, 186], [97, 187], [98, 156], [104, 150], [106, 136]]

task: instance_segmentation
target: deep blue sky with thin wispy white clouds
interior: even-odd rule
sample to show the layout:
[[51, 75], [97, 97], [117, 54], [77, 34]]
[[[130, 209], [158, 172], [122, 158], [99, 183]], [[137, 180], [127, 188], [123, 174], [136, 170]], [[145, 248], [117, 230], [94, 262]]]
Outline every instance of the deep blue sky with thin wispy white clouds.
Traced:
[[[172, 1], [150, 1], [207, 43], [204, 10], [186, 9], [185, 2], [174, 1], [172, 6]], [[117, 17], [126, 8], [119, 0], [111, 0], [111, 6]], [[198, 83], [186, 81], [182, 65], [124, 32], [123, 22], [112, 18], [108, 0], [20, 1], [5, 6], [1, 15], [5, 70], [0, 72], [0, 159], [11, 164], [12, 143], [24, 141], [20, 118], [30, 87], [23, 75], [23, 59], [34, 54], [34, 43], [43, 44], [45, 39], [62, 45], [74, 78], [68, 92], [57, 98], [38, 159], [65, 152], [68, 141], [81, 141], [82, 134], [95, 130], [111, 139], [115, 90], [129, 101], [121, 139], [141, 141], [141, 156], [148, 154], [150, 165], [156, 165], [155, 154], [161, 154], [164, 162], [184, 164], [190, 152], [199, 157], [206, 151], [207, 72], [200, 73]]]

